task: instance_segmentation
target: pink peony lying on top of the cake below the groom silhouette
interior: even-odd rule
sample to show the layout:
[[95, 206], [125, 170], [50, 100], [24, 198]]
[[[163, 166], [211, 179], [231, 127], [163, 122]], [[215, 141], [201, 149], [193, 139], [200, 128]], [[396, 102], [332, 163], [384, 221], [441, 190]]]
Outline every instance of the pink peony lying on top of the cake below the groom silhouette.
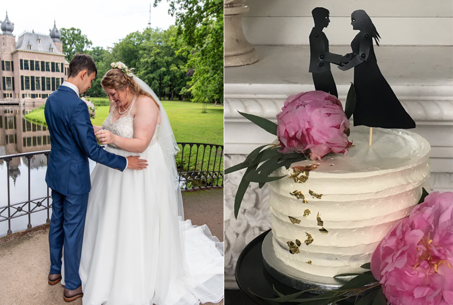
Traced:
[[277, 121], [283, 154], [295, 151], [320, 160], [330, 152], [344, 154], [352, 145], [345, 134], [349, 120], [340, 101], [322, 91], [288, 97]]

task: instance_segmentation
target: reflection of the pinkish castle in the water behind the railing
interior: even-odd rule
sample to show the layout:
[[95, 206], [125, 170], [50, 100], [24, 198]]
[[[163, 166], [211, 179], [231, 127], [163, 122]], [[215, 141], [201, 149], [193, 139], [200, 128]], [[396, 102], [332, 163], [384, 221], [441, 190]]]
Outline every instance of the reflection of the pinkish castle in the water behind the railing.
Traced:
[[[31, 123], [24, 115], [33, 110], [32, 106], [0, 107], [0, 156], [30, 153], [32, 151], [50, 149], [50, 135], [46, 127]], [[27, 159], [23, 158], [27, 164]], [[4, 163], [4, 161], [0, 161]], [[44, 155], [34, 156], [30, 161], [31, 168], [45, 167]], [[10, 163], [11, 176], [20, 175], [19, 158]]]

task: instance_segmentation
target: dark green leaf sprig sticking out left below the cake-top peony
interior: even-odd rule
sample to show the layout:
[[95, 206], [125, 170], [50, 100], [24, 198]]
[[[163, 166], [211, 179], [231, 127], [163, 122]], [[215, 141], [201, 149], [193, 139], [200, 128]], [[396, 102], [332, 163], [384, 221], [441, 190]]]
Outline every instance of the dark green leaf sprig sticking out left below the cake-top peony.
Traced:
[[[243, 113], [241, 115], [258, 125], [265, 131], [277, 136], [277, 124], [266, 118]], [[237, 218], [239, 213], [240, 203], [242, 202], [250, 182], [257, 182], [261, 189], [266, 182], [275, 181], [285, 176], [270, 176], [276, 169], [284, 166], [286, 169], [298, 161], [307, 160], [307, 156], [298, 153], [282, 154], [280, 153], [281, 146], [278, 144], [266, 144], [255, 148], [244, 160], [225, 170], [225, 174], [232, 173], [237, 170], [247, 168], [246, 173], [239, 182], [236, 196], [234, 197], [234, 217]]]

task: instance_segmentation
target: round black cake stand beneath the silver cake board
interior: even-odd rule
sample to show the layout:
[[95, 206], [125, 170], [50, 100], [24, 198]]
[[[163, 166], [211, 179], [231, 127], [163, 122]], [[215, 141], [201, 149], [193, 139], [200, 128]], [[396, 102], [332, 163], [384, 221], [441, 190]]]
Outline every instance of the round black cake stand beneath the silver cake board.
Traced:
[[[270, 275], [267, 271], [269, 266], [263, 259], [262, 246], [263, 240], [266, 235], [270, 232], [260, 234], [255, 239], [253, 239], [244, 250], [239, 255], [239, 258], [236, 263], [236, 282], [239, 286], [239, 289], [243, 291], [254, 304], [268, 305], [276, 304], [276, 302], [268, 301], [266, 299], [260, 298], [276, 298], [278, 297], [277, 293], [274, 291], [273, 286], [284, 295], [292, 294], [299, 292], [300, 290], [289, 287], [279, 280]], [[266, 269], [267, 267], [267, 269]], [[270, 270], [273, 272], [272, 270]], [[274, 272], [273, 272], [274, 273]], [[275, 274], [275, 273], [274, 273]], [[257, 296], [258, 295], [258, 296]], [[298, 298], [313, 298], [316, 297], [316, 294], [304, 293]], [[294, 304], [290, 302], [279, 303], [283, 305]], [[342, 301], [338, 302], [339, 305], [350, 305], [353, 304], [352, 301]]]

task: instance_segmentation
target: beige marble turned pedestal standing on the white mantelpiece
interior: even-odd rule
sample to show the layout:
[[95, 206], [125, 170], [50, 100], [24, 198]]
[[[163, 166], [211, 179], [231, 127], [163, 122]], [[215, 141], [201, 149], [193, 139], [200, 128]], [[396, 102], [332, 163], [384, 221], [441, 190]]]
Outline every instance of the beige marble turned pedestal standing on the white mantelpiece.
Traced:
[[224, 62], [225, 67], [245, 66], [258, 60], [258, 53], [246, 39], [242, 27], [244, 13], [249, 7], [244, 5], [246, 0], [225, 0], [225, 33], [224, 33]]

